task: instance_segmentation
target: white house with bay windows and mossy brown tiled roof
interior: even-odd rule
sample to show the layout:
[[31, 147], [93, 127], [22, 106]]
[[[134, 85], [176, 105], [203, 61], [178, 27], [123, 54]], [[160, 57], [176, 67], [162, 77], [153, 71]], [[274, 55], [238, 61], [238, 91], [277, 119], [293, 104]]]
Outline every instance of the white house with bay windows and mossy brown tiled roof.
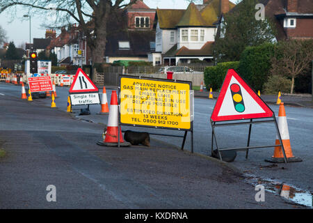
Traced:
[[186, 10], [157, 8], [154, 20], [156, 50], [149, 55], [154, 65], [175, 66], [193, 59], [211, 61], [216, 20], [234, 8], [228, 0], [191, 2]]

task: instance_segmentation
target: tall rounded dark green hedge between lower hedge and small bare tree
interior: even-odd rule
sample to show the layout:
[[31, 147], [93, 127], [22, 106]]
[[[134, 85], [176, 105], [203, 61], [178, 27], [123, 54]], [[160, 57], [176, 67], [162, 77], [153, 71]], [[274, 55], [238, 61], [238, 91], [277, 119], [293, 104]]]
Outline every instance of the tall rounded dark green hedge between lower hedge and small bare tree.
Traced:
[[271, 75], [271, 57], [274, 52], [274, 44], [264, 43], [257, 47], [246, 47], [241, 54], [239, 73], [255, 91], [262, 91]]

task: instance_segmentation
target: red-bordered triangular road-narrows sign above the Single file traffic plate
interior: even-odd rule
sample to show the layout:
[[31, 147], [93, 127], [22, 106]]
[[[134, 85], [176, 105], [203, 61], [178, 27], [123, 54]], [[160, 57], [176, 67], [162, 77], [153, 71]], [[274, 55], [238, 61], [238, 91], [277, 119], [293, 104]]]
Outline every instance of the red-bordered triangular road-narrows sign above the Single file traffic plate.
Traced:
[[99, 92], [99, 89], [81, 68], [78, 68], [70, 87], [70, 93]]

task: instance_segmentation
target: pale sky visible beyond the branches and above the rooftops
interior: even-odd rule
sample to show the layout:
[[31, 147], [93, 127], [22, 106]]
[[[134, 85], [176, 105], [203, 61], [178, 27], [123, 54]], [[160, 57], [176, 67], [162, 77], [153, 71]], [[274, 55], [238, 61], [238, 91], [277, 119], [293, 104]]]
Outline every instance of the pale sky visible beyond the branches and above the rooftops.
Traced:
[[[199, 3], [200, 0], [195, 1]], [[230, 0], [236, 3], [237, 0]], [[188, 6], [188, 0], [144, 0], [145, 4], [150, 8], [175, 8], [185, 9]], [[24, 43], [29, 43], [29, 17], [23, 17], [27, 15], [27, 10], [18, 8], [16, 15], [13, 17], [8, 12], [0, 14], [0, 26], [6, 31], [8, 41], [13, 41], [16, 47], [22, 46]], [[42, 27], [43, 20], [49, 20], [49, 18], [42, 18], [40, 15], [31, 15], [31, 43], [33, 38], [45, 38], [46, 28]], [[58, 31], [56, 31], [58, 35]]]

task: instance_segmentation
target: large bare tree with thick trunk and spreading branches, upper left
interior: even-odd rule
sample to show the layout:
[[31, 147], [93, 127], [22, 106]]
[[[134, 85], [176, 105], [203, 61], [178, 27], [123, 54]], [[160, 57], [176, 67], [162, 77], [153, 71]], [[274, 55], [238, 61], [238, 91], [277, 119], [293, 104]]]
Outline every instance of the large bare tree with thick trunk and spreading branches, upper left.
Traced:
[[53, 13], [54, 27], [76, 22], [86, 36], [93, 63], [103, 63], [108, 21], [136, 1], [139, 0], [0, 0], [0, 13], [10, 10], [14, 16], [17, 7], [22, 6], [33, 15], [51, 17]]

